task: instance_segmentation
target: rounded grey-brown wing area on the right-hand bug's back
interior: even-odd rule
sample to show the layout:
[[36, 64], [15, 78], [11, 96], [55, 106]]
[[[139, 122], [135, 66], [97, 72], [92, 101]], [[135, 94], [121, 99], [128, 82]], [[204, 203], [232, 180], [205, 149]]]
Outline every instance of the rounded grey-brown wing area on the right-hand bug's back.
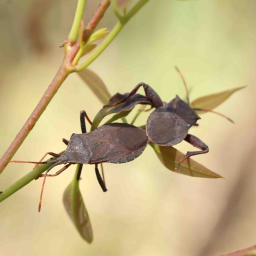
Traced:
[[168, 105], [152, 112], [146, 125], [149, 140], [161, 146], [180, 143], [188, 134], [189, 128], [185, 120], [168, 111]]

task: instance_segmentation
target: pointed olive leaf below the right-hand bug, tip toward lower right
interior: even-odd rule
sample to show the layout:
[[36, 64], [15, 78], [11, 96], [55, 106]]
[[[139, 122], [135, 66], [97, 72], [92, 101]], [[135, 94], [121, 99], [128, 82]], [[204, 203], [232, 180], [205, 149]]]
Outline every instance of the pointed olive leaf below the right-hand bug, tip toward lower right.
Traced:
[[180, 164], [179, 169], [175, 170], [175, 167], [179, 163], [180, 159], [185, 156], [184, 154], [182, 154], [182, 152], [173, 147], [163, 147], [153, 143], [149, 143], [149, 145], [155, 150], [157, 157], [159, 158], [161, 163], [173, 172], [188, 175], [191, 177], [209, 179], [224, 178], [221, 175], [207, 169], [202, 164], [197, 163], [191, 158], [186, 159], [183, 163]]

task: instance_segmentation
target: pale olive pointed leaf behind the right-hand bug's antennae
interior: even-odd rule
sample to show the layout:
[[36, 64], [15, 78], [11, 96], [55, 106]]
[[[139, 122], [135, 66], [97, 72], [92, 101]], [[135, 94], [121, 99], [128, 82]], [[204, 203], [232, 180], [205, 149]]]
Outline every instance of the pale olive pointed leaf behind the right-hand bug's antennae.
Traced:
[[[191, 104], [190, 104], [191, 108], [203, 108], [203, 109], [212, 110], [212, 109], [218, 107], [225, 100], [227, 100], [234, 92], [237, 92], [238, 90], [241, 90], [245, 87], [246, 86], [241, 86], [239, 88], [227, 90], [225, 92], [215, 93], [212, 95], [207, 95], [207, 96], [201, 97], [201, 98], [196, 99], [193, 102], [191, 102]], [[196, 113], [197, 113], [197, 111], [196, 111]], [[200, 111], [199, 113], [202, 114], [202, 111]]]

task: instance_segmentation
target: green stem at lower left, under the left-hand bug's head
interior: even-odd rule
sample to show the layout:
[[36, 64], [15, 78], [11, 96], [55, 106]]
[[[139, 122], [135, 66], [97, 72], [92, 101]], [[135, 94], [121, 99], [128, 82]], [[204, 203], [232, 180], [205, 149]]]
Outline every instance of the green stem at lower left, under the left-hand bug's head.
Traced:
[[[63, 151], [64, 152], [64, 151]], [[60, 152], [60, 155], [63, 154], [63, 152]], [[56, 157], [51, 157], [50, 159], [47, 159], [46, 161], [50, 161], [56, 159]], [[13, 195], [15, 192], [17, 192], [19, 189], [23, 188], [29, 182], [32, 180], [35, 180], [40, 174], [45, 172], [53, 163], [50, 164], [40, 164], [38, 167], [36, 167], [34, 170], [14, 182], [11, 186], [4, 189], [2, 193], [0, 194], [0, 202], [3, 202], [6, 198]], [[41, 179], [39, 179], [41, 180]]]

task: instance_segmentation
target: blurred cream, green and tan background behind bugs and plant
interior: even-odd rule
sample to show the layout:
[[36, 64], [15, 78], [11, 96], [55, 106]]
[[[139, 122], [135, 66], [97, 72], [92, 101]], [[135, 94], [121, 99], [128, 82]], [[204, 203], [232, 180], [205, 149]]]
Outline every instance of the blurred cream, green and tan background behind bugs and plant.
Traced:
[[[100, 1], [89, 0], [90, 20]], [[77, 1], [0, 2], [0, 155], [26, 122], [63, 58]], [[113, 28], [109, 8], [98, 28]], [[248, 85], [216, 109], [235, 121], [202, 115], [191, 134], [210, 148], [193, 157], [228, 179], [196, 179], [167, 170], [152, 148], [127, 164], [104, 164], [108, 193], [102, 193], [93, 166], [84, 166], [81, 193], [92, 221], [94, 241], [76, 231], [62, 203], [75, 166], [45, 184], [34, 180], [0, 204], [0, 255], [198, 255], [232, 252], [256, 243], [256, 1], [151, 0], [133, 17], [90, 68], [109, 92], [130, 92], [150, 84], [165, 101], [185, 90], [191, 100]], [[142, 90], [140, 91], [142, 93]], [[38, 161], [65, 149], [62, 138], [80, 133], [79, 111], [90, 118], [101, 103], [77, 76], [63, 83], [13, 159]], [[129, 120], [136, 111], [130, 114]], [[145, 124], [148, 113], [136, 125]], [[186, 153], [193, 147], [177, 145]], [[31, 171], [9, 164], [0, 190]]]

